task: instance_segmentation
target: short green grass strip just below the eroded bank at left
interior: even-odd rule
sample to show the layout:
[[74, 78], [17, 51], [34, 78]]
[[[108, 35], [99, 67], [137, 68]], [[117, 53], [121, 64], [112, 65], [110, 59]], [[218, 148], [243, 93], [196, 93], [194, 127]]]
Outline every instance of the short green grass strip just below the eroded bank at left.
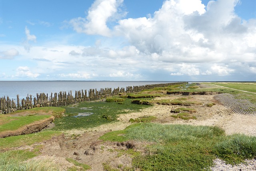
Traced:
[[17, 135], [12, 137], [0, 138], [0, 149], [20, 147], [22, 145], [32, 145], [48, 139], [52, 139], [54, 136], [61, 135], [58, 131], [41, 131], [38, 133], [32, 133], [27, 135]]

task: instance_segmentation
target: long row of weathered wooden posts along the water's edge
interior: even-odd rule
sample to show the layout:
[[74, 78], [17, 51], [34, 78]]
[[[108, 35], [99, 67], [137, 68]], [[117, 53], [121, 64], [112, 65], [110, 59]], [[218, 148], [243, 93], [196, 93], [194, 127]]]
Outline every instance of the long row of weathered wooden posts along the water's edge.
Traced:
[[[168, 85], [181, 84], [181, 82], [176, 83], [165, 83], [165, 84], [150, 84], [150, 85], [136, 85], [128, 86], [126, 89], [122, 88], [102, 88], [100, 90], [90, 89], [75, 91], [74, 95], [72, 91], [60, 91], [59, 93], [37, 93], [36, 97], [32, 98], [32, 95], [28, 95], [26, 98], [21, 99], [17, 95], [17, 101], [7, 97], [0, 98], [0, 114], [12, 113], [17, 110], [31, 109], [34, 107], [61, 107], [74, 105], [76, 103], [84, 101], [96, 101], [102, 98], [111, 97], [113, 95], [118, 95], [119, 93], [135, 93], [145, 89], [152, 89], [154, 87], [165, 87]], [[88, 92], [88, 93], [87, 93]]]

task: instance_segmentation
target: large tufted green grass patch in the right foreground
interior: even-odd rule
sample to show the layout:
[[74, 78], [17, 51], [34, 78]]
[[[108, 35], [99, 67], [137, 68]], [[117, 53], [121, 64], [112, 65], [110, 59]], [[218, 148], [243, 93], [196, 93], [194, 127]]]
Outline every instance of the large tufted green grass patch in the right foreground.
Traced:
[[[110, 134], [111, 139], [108, 138]], [[218, 127], [136, 123], [100, 139], [116, 141], [117, 137], [119, 141], [132, 139], [145, 142], [145, 145], [154, 142], [143, 154], [134, 156], [133, 170], [201, 171], [210, 170], [216, 156], [230, 164], [256, 157], [256, 137], [225, 135]]]

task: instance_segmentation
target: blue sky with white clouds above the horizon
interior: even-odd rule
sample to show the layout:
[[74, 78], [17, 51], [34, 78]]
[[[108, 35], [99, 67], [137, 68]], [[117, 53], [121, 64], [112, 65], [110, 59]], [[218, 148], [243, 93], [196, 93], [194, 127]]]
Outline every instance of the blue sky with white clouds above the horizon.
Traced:
[[256, 81], [255, 0], [0, 0], [0, 81]]

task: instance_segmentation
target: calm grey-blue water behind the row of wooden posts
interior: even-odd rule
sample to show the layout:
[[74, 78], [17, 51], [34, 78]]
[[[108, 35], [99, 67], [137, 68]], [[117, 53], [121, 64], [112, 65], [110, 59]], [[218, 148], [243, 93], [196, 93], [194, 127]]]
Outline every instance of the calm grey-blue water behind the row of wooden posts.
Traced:
[[134, 85], [161, 84], [171, 82], [114, 82], [114, 81], [0, 81], [0, 97], [9, 96], [10, 99], [25, 98], [27, 95], [36, 97], [36, 93], [59, 93], [60, 91], [89, 90], [114, 88]]

